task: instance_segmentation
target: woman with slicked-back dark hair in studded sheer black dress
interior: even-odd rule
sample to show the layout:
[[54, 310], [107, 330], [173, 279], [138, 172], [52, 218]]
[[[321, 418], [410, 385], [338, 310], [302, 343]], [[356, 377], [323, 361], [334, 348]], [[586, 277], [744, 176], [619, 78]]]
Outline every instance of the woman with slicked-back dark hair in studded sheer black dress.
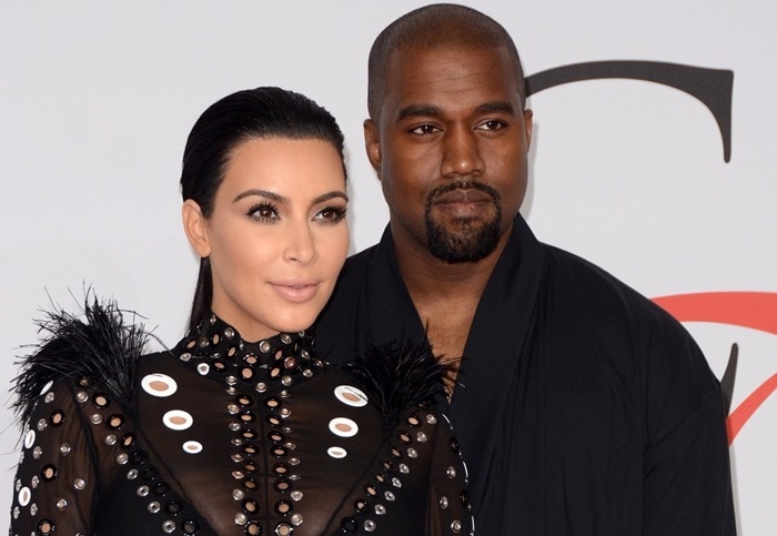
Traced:
[[52, 315], [17, 387], [12, 534], [470, 533], [441, 366], [407, 346], [327, 366], [305, 331], [349, 245], [329, 112], [229, 95], [195, 123], [181, 184], [202, 259], [190, 332], [140, 355], [112, 305]]

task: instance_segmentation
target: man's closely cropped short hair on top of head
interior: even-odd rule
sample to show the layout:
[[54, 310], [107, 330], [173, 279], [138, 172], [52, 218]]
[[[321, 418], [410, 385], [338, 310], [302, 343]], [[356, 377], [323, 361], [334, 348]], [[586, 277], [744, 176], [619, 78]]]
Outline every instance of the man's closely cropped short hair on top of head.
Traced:
[[472, 8], [436, 3], [410, 11], [389, 24], [375, 39], [367, 65], [367, 110], [377, 121], [385, 98], [386, 65], [391, 54], [406, 49], [504, 48], [515, 69], [521, 108], [526, 89], [518, 51], [502, 24]]

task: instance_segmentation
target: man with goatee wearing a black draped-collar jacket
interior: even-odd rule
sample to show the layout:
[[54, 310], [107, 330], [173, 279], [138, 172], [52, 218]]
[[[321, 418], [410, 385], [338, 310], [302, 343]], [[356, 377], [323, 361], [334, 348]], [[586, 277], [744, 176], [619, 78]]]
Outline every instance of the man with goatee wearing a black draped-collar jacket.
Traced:
[[524, 100], [513, 41], [477, 11], [421, 8], [377, 37], [364, 136], [391, 221], [349, 260], [319, 348], [421, 340], [460, 366], [478, 534], [734, 534], [723, 397], [696, 344], [518, 214]]

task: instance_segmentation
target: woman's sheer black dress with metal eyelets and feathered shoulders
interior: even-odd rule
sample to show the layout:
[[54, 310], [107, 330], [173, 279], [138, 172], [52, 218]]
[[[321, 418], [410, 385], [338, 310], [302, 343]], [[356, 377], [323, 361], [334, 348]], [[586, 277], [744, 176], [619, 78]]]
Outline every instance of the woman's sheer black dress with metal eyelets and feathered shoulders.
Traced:
[[87, 313], [19, 376], [11, 534], [473, 532], [434, 360], [327, 365], [310, 333], [249, 343], [215, 315], [140, 355], [115, 310]]

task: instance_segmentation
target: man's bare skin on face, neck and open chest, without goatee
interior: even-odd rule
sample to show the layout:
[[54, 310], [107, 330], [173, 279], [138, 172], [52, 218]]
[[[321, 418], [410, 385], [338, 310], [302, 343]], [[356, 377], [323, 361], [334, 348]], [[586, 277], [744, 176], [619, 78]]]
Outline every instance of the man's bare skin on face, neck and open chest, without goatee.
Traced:
[[[386, 65], [380, 119], [364, 122], [367, 156], [389, 203], [400, 270], [436, 354], [457, 364], [481, 295], [526, 193], [532, 112], [502, 48], [405, 49]], [[434, 198], [458, 181], [465, 186]], [[477, 182], [495, 191], [496, 201]], [[496, 221], [496, 249], [448, 263], [430, 253], [424, 213], [466, 241]]]

